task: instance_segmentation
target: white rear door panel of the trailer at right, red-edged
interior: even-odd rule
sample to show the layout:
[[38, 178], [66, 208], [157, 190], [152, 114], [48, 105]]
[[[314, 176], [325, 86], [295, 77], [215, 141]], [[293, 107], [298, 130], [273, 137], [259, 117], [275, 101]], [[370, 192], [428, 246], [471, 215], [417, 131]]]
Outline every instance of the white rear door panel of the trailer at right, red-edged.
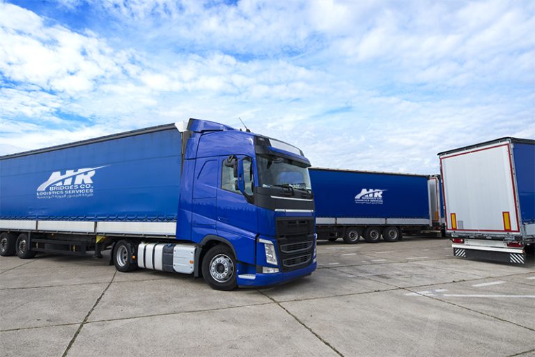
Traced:
[[518, 206], [509, 141], [440, 157], [449, 232], [518, 233]]

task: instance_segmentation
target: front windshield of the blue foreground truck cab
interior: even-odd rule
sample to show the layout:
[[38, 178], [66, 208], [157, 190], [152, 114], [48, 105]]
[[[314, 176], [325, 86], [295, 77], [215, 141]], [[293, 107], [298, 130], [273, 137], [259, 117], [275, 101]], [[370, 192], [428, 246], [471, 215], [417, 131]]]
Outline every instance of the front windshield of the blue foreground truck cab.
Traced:
[[309, 170], [307, 170], [306, 164], [266, 154], [258, 155], [257, 162], [261, 187], [311, 189]]

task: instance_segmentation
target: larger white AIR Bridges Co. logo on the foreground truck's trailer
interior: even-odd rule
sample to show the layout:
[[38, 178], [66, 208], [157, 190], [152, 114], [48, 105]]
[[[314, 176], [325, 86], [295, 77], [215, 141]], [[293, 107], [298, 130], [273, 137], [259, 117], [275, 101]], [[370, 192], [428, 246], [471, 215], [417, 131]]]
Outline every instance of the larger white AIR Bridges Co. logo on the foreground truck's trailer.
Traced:
[[105, 166], [54, 171], [37, 188], [37, 198], [76, 198], [93, 196], [93, 176]]

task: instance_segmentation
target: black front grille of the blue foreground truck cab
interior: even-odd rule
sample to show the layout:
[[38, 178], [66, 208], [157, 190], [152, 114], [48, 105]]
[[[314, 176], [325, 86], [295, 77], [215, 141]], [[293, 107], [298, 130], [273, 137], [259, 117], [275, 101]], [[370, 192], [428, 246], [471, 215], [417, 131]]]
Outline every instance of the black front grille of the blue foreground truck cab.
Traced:
[[278, 218], [277, 243], [283, 271], [307, 267], [314, 253], [313, 218]]

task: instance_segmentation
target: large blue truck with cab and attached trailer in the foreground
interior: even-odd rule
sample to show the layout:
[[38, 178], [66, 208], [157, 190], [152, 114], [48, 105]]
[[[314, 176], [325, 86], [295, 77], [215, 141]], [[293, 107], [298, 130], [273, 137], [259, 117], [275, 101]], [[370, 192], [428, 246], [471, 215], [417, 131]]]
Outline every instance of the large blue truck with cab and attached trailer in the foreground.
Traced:
[[118, 271], [265, 286], [316, 269], [309, 160], [206, 120], [0, 157], [0, 255], [111, 249]]

